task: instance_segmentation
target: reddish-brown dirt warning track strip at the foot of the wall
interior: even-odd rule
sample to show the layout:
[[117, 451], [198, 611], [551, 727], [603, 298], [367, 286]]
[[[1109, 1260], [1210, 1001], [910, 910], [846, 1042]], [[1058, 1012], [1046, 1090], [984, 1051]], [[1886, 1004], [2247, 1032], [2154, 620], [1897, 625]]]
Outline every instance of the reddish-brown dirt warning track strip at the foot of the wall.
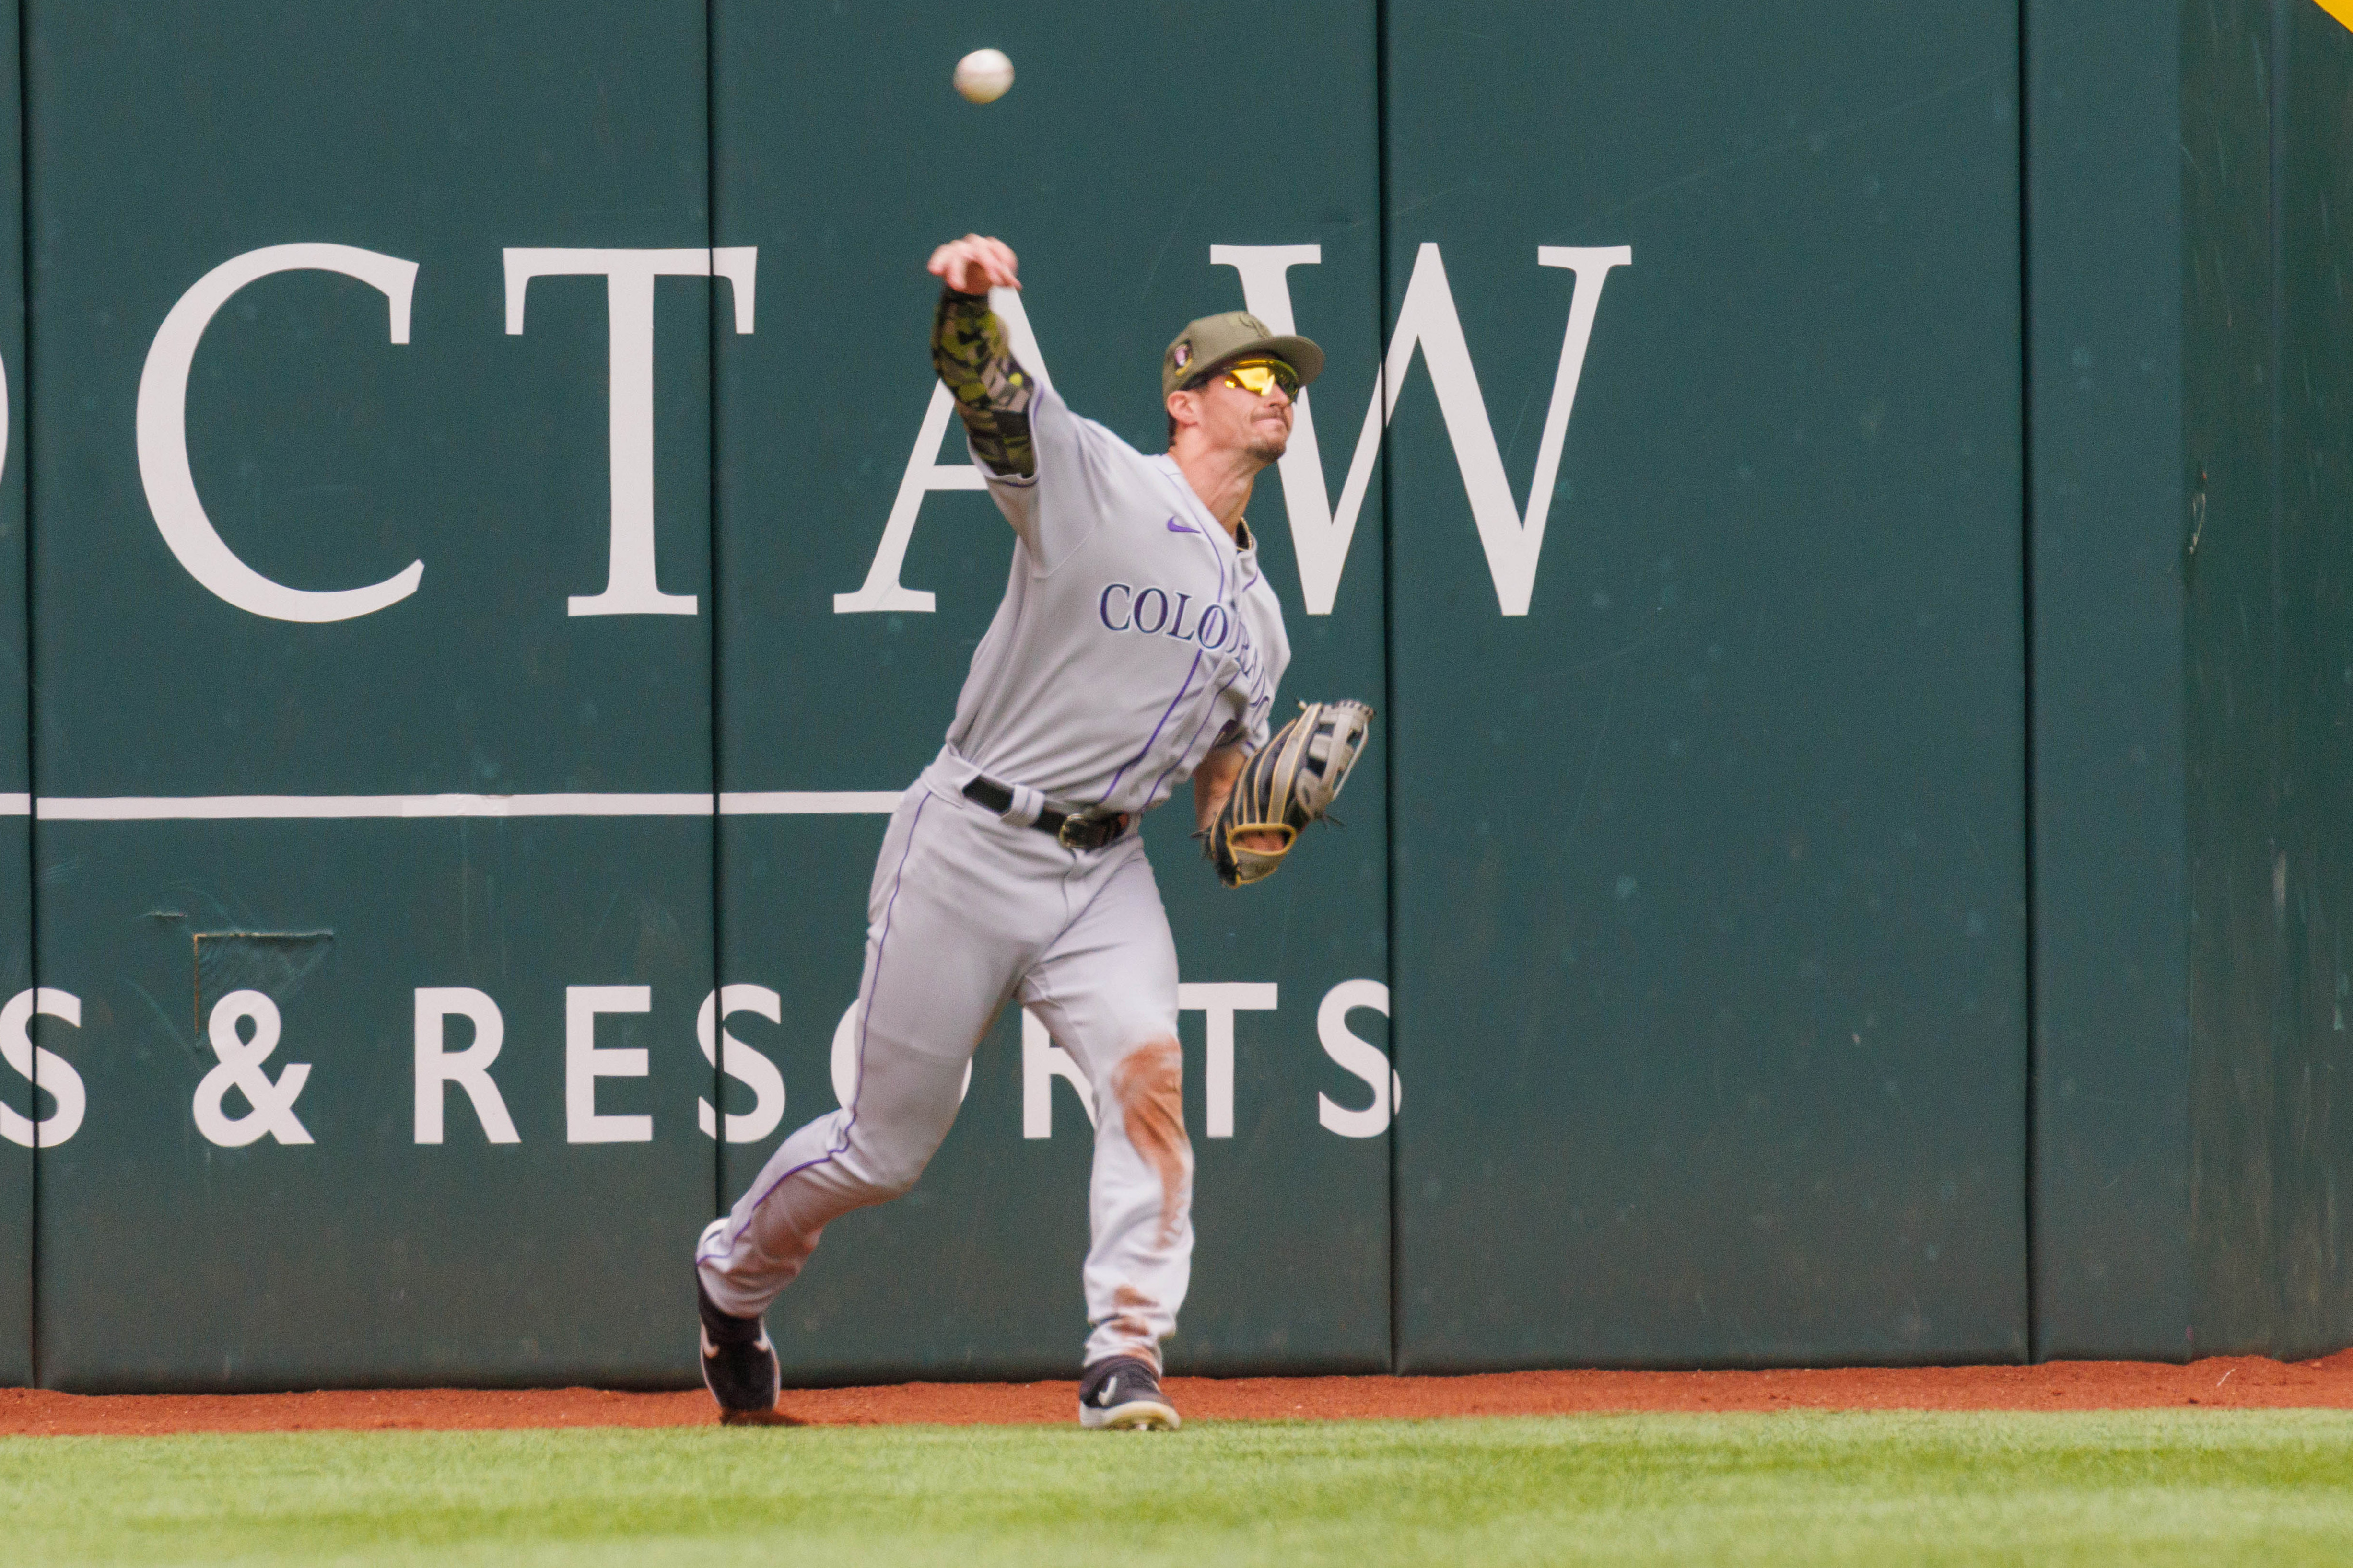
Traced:
[[[1188, 1420], [1372, 1420], [1609, 1410], [2353, 1410], [2353, 1349], [2318, 1361], [2212, 1356], [2045, 1366], [1873, 1366], [1755, 1373], [1480, 1373], [1466, 1378], [1169, 1378]], [[788, 1389], [819, 1427], [1066, 1422], [1075, 1382], [901, 1382]], [[482, 1432], [696, 1427], [701, 1389], [322, 1389], [313, 1394], [56, 1394], [0, 1389], [0, 1436], [165, 1432]]]

